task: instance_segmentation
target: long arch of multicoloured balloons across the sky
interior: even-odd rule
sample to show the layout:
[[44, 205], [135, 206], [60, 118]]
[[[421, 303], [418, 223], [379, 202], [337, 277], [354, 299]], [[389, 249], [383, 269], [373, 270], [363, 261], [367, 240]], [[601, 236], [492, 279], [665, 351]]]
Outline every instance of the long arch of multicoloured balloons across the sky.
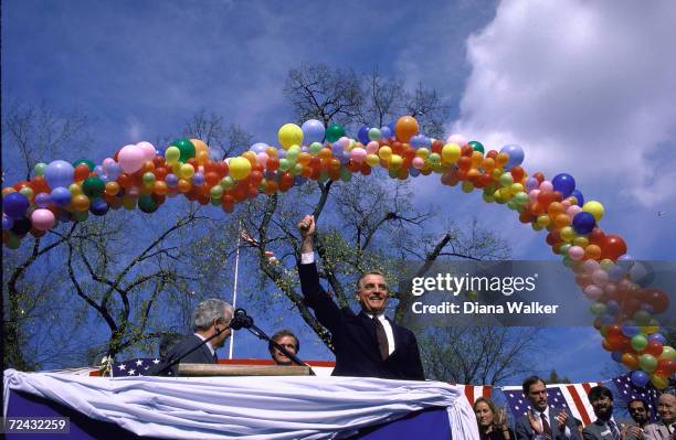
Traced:
[[667, 386], [676, 351], [653, 315], [667, 309], [668, 298], [636, 282], [633, 269], [640, 264], [626, 254], [621, 236], [600, 228], [603, 205], [584, 202], [571, 175], [528, 175], [519, 146], [485, 152], [480, 142], [461, 135], [445, 142], [431, 139], [409, 116], [387, 127], [365, 126], [357, 138], [346, 137], [339, 125], [325, 128], [308, 120], [283, 126], [279, 149], [255, 143], [224, 161], [212, 160], [203, 141], [181, 138], [163, 151], [149, 142], [129, 144], [98, 165], [86, 159], [39, 163], [30, 181], [2, 189], [2, 243], [15, 249], [28, 234], [41, 237], [57, 221], [83, 222], [89, 213], [101, 216], [120, 206], [152, 213], [177, 194], [232, 212], [239, 202], [288, 191], [305, 179], [349, 181], [376, 167], [401, 180], [436, 173], [442, 184], [461, 184], [466, 193], [482, 190], [484, 201], [506, 205], [535, 230], [547, 229], [547, 244], [593, 301], [603, 348], [632, 371], [634, 385]]

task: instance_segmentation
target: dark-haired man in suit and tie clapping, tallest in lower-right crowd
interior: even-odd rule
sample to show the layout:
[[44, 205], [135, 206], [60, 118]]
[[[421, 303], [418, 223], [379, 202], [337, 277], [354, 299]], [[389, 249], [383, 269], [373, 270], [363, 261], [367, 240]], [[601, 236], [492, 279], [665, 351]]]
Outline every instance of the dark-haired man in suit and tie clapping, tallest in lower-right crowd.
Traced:
[[553, 414], [547, 403], [547, 384], [538, 376], [530, 376], [522, 384], [524, 395], [531, 409], [515, 423], [517, 440], [556, 439], [579, 440], [575, 419], [568, 411]]

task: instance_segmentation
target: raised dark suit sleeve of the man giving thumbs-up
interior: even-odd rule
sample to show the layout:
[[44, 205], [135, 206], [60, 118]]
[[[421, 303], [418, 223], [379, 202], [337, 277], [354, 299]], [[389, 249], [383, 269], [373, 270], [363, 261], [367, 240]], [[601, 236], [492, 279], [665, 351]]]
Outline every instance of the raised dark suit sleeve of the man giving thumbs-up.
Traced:
[[339, 331], [341, 329], [340, 309], [319, 283], [317, 265], [314, 262], [298, 265], [298, 275], [300, 277], [300, 290], [305, 297], [305, 303], [315, 311], [317, 320], [329, 332], [335, 333]]

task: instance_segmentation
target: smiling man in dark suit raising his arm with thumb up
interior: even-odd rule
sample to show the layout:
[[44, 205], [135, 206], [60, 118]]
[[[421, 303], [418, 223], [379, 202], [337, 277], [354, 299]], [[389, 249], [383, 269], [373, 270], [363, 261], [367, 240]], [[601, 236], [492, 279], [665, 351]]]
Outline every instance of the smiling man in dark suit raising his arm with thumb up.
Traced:
[[418, 341], [413, 333], [384, 316], [388, 287], [382, 273], [360, 277], [356, 297], [361, 311], [339, 308], [321, 288], [315, 265], [315, 218], [307, 215], [300, 230], [300, 287], [317, 320], [331, 332], [336, 353], [334, 376], [424, 380]]

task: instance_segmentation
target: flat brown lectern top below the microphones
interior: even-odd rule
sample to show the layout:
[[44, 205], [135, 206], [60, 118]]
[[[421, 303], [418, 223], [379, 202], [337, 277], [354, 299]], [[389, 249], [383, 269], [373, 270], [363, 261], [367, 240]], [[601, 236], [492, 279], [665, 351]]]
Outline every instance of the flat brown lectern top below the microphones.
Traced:
[[178, 368], [181, 377], [309, 376], [310, 372], [305, 365], [179, 364]]

